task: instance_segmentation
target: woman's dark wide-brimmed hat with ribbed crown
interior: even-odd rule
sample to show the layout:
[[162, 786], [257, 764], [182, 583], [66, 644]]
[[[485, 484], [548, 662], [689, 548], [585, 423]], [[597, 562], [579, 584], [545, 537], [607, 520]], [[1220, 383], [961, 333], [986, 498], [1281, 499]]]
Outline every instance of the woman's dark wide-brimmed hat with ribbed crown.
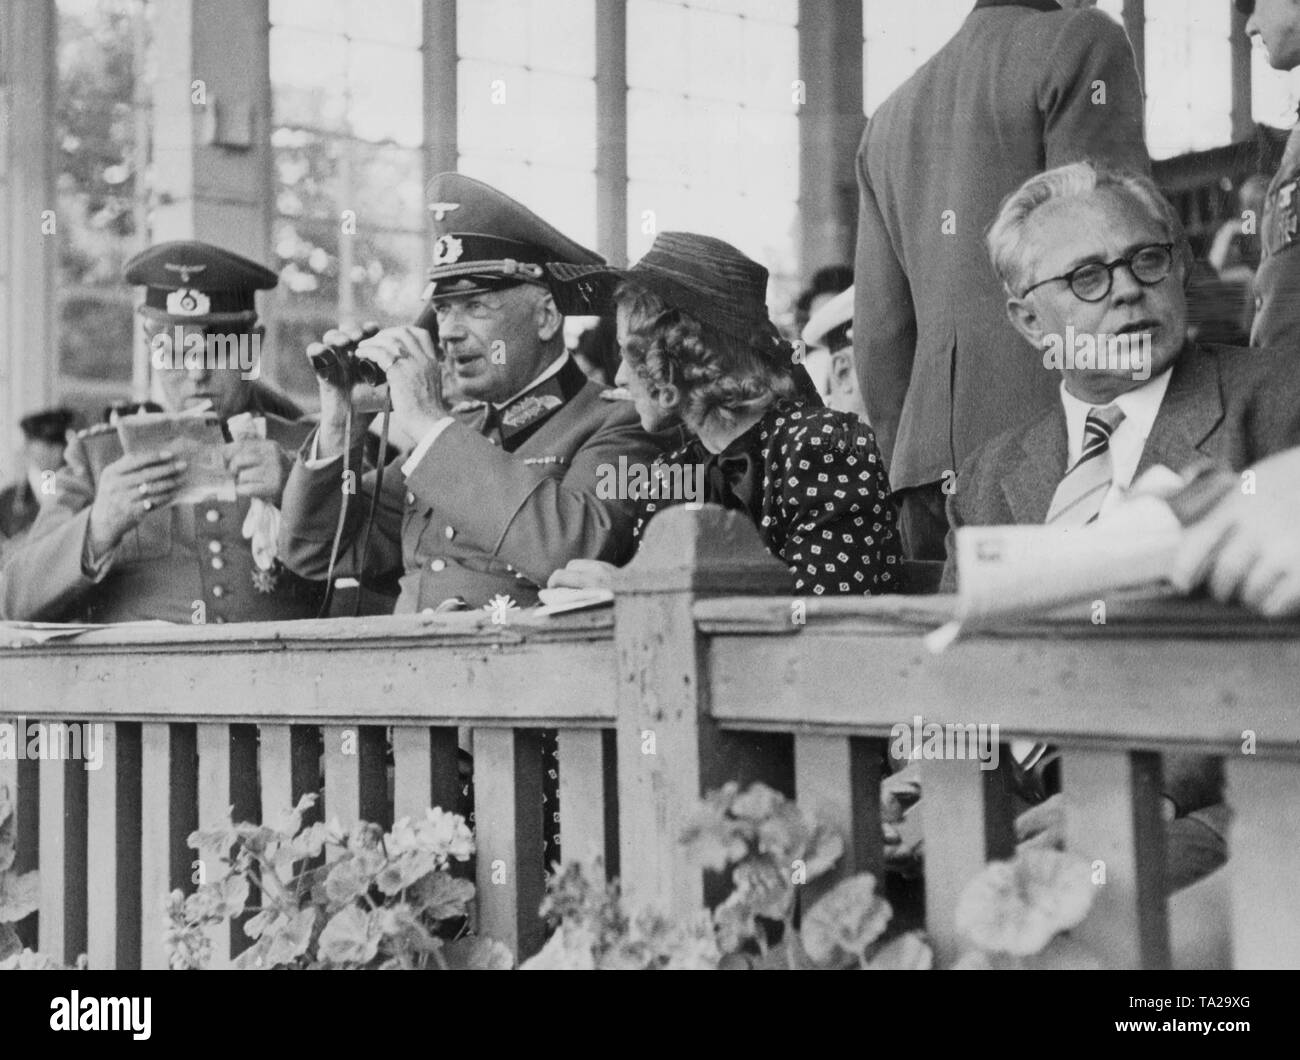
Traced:
[[560, 312], [604, 316], [623, 282], [658, 295], [671, 308], [740, 342], [776, 334], [767, 312], [767, 269], [731, 243], [693, 232], [660, 232], [632, 268], [549, 263]]

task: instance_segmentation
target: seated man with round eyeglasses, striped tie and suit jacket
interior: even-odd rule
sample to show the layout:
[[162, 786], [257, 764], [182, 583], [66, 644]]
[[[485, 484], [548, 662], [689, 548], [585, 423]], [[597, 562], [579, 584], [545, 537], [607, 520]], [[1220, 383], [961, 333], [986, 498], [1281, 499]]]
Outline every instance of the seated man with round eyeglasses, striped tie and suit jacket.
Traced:
[[[1235, 472], [1300, 444], [1300, 359], [1187, 341], [1190, 252], [1148, 177], [1089, 163], [1050, 169], [1008, 196], [987, 243], [1008, 317], [1035, 351], [1006, 355], [1023, 358], [1024, 372], [1056, 372], [1060, 399], [958, 471], [945, 588], [959, 575], [962, 525], [1082, 527], [1157, 464]], [[1171, 888], [1226, 857], [1221, 787], [1216, 760], [1166, 756]], [[1022, 838], [1050, 834], [1054, 821], [1031, 812]]]

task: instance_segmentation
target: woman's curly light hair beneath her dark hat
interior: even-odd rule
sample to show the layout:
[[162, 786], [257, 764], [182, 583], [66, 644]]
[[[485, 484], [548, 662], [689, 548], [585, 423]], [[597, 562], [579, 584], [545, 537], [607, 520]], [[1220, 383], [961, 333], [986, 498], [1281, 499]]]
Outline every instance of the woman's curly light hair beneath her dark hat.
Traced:
[[688, 424], [732, 419], [797, 393], [794, 347], [770, 321], [741, 342], [632, 282], [619, 285], [614, 303], [627, 313], [628, 364], [664, 411]]

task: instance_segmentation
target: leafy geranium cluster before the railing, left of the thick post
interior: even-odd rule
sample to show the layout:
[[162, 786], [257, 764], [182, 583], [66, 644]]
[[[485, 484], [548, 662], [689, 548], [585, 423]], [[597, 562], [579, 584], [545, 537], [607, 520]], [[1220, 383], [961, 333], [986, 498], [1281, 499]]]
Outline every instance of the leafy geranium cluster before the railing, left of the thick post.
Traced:
[[[244, 913], [254, 940], [237, 968], [510, 968], [510, 951], [468, 935], [474, 886], [452, 875], [473, 836], [464, 818], [430, 809], [391, 831], [360, 823], [350, 831], [303, 814], [303, 796], [280, 827], [228, 819], [188, 838], [204, 865], [224, 875], [188, 897], [168, 900], [172, 968], [203, 968], [209, 931]], [[315, 864], [326, 855], [324, 865]], [[248, 907], [248, 896], [260, 905]]]

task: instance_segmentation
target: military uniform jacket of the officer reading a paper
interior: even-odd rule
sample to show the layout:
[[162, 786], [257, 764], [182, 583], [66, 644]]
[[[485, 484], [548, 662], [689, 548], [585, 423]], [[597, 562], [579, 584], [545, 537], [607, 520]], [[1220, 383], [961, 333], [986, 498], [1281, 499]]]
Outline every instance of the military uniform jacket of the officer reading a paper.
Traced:
[[[260, 388], [254, 393], [248, 411], [265, 416], [266, 437], [280, 442], [287, 471], [312, 427], [264, 411], [283, 410], [282, 399]], [[26, 542], [5, 557], [0, 616], [182, 623], [316, 616], [324, 587], [304, 584], [278, 563], [269, 572], [254, 563], [242, 532], [247, 497], [153, 511], [127, 531], [95, 572], [87, 572], [82, 558], [96, 483], [121, 455], [112, 427], [91, 428], [72, 441], [55, 496], [42, 506]]]

